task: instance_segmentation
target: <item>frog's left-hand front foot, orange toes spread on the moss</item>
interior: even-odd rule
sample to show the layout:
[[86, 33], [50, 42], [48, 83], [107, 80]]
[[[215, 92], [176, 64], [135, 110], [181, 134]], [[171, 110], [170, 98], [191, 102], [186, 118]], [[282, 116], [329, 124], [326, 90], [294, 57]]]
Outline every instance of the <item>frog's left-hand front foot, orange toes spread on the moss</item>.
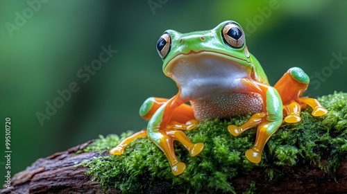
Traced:
[[158, 130], [151, 131], [149, 137], [165, 153], [171, 171], [174, 175], [180, 175], [185, 171], [185, 164], [179, 161], [174, 150], [174, 141], [180, 141], [192, 157], [203, 150], [203, 143], [192, 143], [183, 131], [180, 130]]

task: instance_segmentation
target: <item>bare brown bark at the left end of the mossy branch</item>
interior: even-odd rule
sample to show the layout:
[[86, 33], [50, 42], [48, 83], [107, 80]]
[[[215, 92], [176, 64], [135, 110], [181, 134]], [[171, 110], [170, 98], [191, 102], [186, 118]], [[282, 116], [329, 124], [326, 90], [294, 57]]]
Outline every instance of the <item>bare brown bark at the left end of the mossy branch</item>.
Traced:
[[[82, 161], [100, 156], [97, 152], [81, 152], [93, 141], [88, 141], [65, 152], [58, 152], [44, 159], [37, 159], [26, 170], [17, 173], [5, 193], [102, 193], [98, 182], [85, 175], [88, 168], [77, 166]], [[77, 154], [76, 152], [81, 153]], [[119, 193], [116, 189], [108, 192]]]

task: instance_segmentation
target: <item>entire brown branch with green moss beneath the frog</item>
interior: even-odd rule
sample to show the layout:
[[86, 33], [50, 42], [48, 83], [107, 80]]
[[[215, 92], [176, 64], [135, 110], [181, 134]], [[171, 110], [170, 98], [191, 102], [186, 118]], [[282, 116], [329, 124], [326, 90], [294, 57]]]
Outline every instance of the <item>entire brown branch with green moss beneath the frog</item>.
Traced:
[[176, 154], [187, 164], [182, 175], [172, 175], [166, 157], [149, 139], [130, 143], [124, 155], [108, 155], [127, 133], [101, 136], [39, 159], [1, 193], [347, 193], [347, 94], [319, 101], [329, 113], [315, 118], [307, 109], [300, 123], [283, 124], [266, 143], [260, 164], [244, 157], [255, 130], [237, 137], [226, 130], [249, 118], [239, 116], [204, 121], [186, 132], [205, 148], [190, 157], [175, 144]]

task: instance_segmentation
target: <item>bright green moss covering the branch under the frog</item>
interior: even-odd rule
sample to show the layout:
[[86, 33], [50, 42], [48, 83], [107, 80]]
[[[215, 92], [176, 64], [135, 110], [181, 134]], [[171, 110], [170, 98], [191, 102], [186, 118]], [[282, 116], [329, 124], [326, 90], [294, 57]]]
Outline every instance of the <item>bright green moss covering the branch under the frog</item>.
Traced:
[[[335, 93], [319, 101], [329, 113], [313, 117], [312, 109], [307, 108], [301, 114], [300, 123], [284, 123], [266, 143], [260, 164], [252, 164], [244, 156], [253, 146], [255, 129], [237, 137], [227, 130], [228, 125], [242, 125], [248, 115], [203, 121], [196, 129], [186, 132], [192, 142], [205, 143], [205, 148], [196, 157], [190, 157], [180, 143], [175, 143], [178, 158], [187, 164], [182, 175], [172, 175], [167, 158], [149, 139], [130, 143], [123, 155], [105, 153], [83, 165], [90, 168], [87, 174], [104, 188], [116, 187], [124, 193], [196, 193], [202, 189], [234, 193], [230, 180], [255, 167], [269, 179], [276, 179], [282, 176], [283, 166], [314, 163], [333, 176], [340, 161], [347, 159], [347, 94]], [[85, 151], [108, 152], [130, 134], [100, 136]], [[320, 164], [320, 159], [327, 159], [328, 164]], [[254, 191], [255, 182], [248, 193]]]

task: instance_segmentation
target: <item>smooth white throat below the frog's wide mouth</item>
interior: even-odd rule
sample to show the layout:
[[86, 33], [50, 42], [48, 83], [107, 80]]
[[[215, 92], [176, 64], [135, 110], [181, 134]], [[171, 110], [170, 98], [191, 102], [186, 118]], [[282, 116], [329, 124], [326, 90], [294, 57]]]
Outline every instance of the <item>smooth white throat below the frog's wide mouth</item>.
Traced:
[[[245, 65], [246, 64], [246, 65]], [[241, 78], [249, 78], [251, 64], [221, 53], [177, 55], [167, 64], [166, 74], [189, 100], [244, 90]]]

